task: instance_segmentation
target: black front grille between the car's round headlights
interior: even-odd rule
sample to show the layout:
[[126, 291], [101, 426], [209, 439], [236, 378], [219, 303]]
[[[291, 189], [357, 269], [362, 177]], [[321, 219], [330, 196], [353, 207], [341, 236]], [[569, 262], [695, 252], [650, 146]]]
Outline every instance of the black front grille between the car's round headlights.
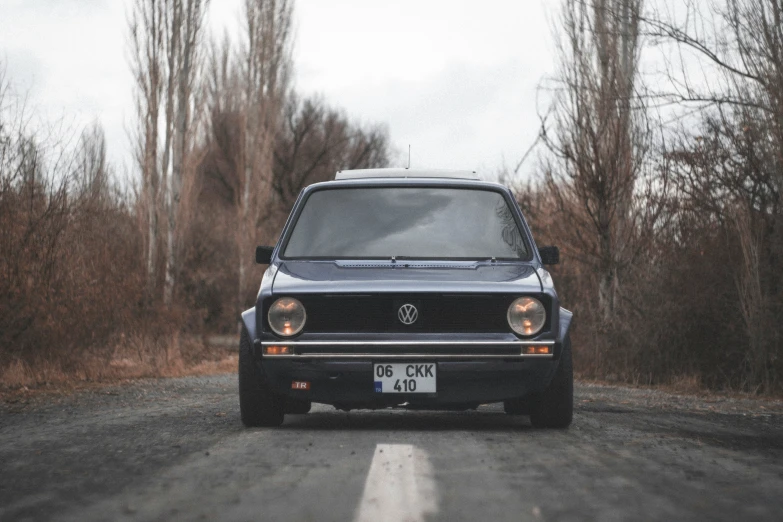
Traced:
[[[304, 331], [308, 333], [508, 333], [506, 312], [517, 297], [296, 296], [307, 310]], [[542, 296], [537, 297], [544, 302]], [[400, 306], [407, 303], [418, 309], [418, 318], [412, 325], [402, 324], [397, 317]], [[544, 305], [549, 308], [547, 302]]]

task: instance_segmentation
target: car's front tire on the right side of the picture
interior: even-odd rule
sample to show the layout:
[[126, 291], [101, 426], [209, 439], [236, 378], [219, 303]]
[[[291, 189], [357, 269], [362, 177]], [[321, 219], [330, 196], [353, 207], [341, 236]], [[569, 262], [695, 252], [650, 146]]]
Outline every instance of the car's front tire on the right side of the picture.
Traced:
[[564, 429], [574, 416], [574, 367], [571, 358], [571, 339], [566, 337], [560, 364], [552, 382], [531, 405], [530, 422], [536, 428]]

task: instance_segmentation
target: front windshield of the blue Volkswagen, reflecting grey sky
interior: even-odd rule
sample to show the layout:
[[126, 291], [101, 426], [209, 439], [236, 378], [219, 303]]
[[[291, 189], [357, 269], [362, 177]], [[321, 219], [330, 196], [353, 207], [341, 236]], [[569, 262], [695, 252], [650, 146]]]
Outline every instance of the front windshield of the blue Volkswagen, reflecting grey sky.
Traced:
[[284, 258], [527, 259], [499, 192], [460, 188], [335, 188], [307, 198]]

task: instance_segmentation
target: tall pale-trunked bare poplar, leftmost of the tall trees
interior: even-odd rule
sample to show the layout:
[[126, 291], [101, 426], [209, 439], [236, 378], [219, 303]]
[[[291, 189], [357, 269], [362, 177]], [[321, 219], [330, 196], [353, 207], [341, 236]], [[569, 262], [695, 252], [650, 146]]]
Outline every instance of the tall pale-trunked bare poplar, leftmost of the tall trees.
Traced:
[[[163, 300], [169, 306], [179, 269], [180, 200], [193, 150], [194, 93], [198, 92], [194, 84], [200, 70], [202, 25], [208, 3], [135, 0], [129, 18], [140, 119], [138, 158], [147, 208], [148, 294], [152, 298], [157, 285], [157, 249], [165, 230]], [[164, 210], [167, 219], [161, 223], [159, 215]]]

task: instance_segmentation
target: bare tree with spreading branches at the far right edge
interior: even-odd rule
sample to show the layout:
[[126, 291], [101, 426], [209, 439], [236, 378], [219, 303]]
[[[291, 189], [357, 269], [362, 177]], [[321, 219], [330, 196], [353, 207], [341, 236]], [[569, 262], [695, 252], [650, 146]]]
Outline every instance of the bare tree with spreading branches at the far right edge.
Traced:
[[743, 387], [769, 390], [783, 350], [774, 319], [783, 313], [783, 4], [721, 0], [709, 16], [689, 1], [684, 11], [679, 19], [659, 10], [645, 20], [649, 34], [690, 52], [706, 71], [695, 76], [675, 61], [669, 89], [659, 94], [704, 112], [696, 131], [681, 133], [678, 188], [688, 205], [737, 238], [748, 343]]

